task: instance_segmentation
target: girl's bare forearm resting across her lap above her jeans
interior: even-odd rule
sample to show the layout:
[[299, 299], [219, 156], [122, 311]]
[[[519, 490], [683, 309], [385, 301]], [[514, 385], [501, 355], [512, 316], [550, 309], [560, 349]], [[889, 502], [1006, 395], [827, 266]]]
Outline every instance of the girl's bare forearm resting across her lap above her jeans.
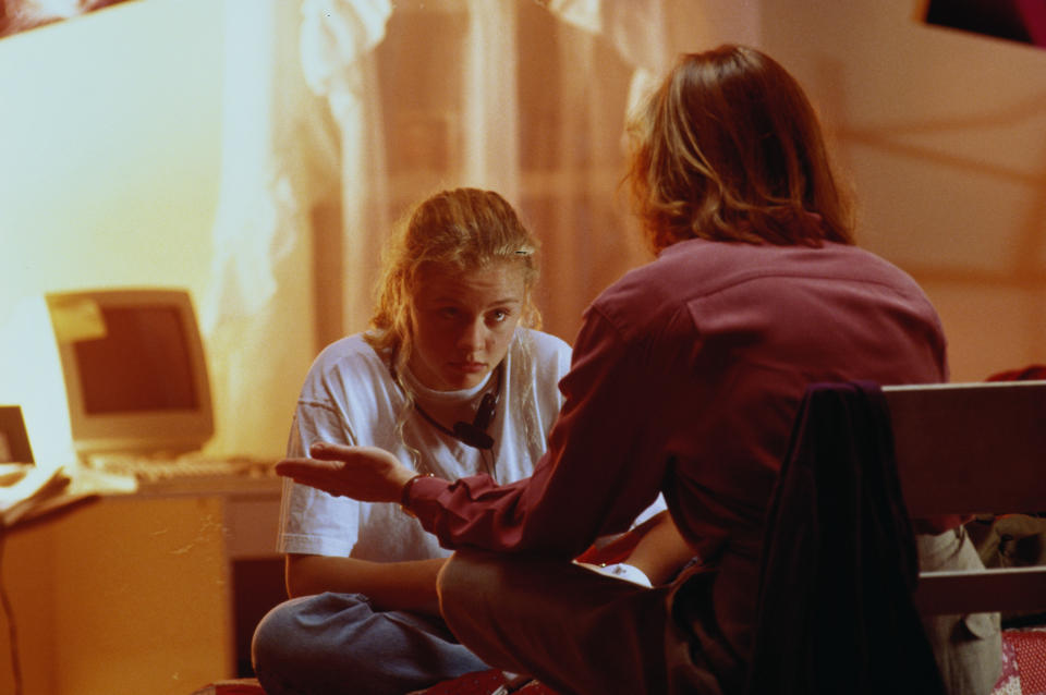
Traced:
[[436, 574], [446, 559], [369, 562], [355, 558], [287, 556], [287, 592], [291, 598], [338, 592], [363, 594], [379, 610], [439, 614]]

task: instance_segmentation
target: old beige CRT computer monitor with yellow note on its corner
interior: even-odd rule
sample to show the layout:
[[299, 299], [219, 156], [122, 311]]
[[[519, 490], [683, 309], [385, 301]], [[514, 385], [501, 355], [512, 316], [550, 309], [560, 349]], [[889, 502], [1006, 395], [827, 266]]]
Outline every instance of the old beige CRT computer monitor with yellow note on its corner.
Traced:
[[188, 292], [83, 290], [46, 300], [82, 459], [168, 455], [204, 446], [214, 416]]

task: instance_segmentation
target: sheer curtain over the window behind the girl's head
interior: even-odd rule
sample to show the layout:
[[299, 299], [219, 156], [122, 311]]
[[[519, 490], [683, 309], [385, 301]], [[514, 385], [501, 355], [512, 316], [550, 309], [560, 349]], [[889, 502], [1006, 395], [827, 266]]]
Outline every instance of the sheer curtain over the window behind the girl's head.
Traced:
[[[341, 144], [324, 340], [366, 326], [378, 252], [414, 202], [492, 188], [543, 242], [546, 329], [646, 259], [619, 182], [630, 94], [667, 62], [661, 0], [306, 0], [303, 65]], [[323, 293], [323, 290], [321, 290]]]

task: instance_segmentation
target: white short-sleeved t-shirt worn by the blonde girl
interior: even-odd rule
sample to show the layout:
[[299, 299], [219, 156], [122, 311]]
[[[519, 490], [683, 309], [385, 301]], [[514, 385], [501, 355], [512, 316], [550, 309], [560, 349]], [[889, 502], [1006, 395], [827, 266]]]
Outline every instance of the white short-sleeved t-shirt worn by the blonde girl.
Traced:
[[[524, 344], [528, 345], [525, 351]], [[526, 369], [527, 356], [533, 369]], [[391, 451], [418, 472], [448, 480], [489, 473], [492, 463], [495, 478], [511, 483], [531, 475], [545, 452], [548, 431], [562, 404], [557, 385], [569, 367], [570, 345], [565, 342], [548, 333], [518, 329], [500, 377], [497, 411], [487, 430], [494, 437], [494, 448], [481, 452], [441, 432], [416, 409], [410, 410], [401, 437], [397, 423], [405, 397], [386, 359], [362, 334], [343, 338], [320, 353], [305, 377], [288, 455], [307, 455], [309, 444], [316, 441], [374, 446]], [[425, 412], [448, 428], [459, 419], [472, 422], [483, 394], [497, 388], [490, 379], [498, 378], [496, 369], [474, 389], [448, 392], [431, 391], [404, 375]], [[283, 486], [278, 549], [385, 562], [450, 554], [398, 504], [332, 497], [290, 479]]]

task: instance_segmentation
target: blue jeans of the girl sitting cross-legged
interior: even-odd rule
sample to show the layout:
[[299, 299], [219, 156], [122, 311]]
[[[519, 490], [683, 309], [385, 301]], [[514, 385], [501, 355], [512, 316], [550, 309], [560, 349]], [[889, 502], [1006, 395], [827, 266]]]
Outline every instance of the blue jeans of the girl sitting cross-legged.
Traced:
[[489, 667], [442, 620], [377, 611], [360, 594], [319, 594], [280, 603], [251, 646], [267, 695], [403, 695]]

